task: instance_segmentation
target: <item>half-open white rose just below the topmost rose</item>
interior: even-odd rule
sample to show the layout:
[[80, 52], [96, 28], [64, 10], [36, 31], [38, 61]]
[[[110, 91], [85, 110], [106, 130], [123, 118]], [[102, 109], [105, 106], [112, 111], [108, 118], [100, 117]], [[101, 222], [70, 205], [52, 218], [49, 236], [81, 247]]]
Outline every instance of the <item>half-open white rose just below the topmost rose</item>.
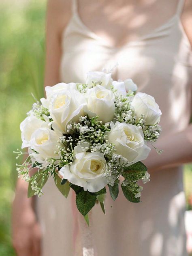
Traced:
[[115, 113], [115, 96], [111, 90], [100, 85], [88, 89], [87, 114], [92, 117], [98, 115], [98, 120], [107, 123], [113, 120]]

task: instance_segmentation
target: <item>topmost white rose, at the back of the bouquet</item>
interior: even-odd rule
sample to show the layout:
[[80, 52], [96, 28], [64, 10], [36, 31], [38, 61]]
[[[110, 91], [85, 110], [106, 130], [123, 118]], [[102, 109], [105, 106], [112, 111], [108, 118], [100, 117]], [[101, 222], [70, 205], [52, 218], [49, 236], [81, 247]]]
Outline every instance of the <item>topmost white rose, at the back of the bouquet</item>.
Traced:
[[105, 73], [100, 71], [89, 71], [87, 73], [86, 84], [88, 86], [92, 86], [94, 82], [95, 84], [99, 84], [105, 88], [110, 89], [112, 84], [112, 73]]

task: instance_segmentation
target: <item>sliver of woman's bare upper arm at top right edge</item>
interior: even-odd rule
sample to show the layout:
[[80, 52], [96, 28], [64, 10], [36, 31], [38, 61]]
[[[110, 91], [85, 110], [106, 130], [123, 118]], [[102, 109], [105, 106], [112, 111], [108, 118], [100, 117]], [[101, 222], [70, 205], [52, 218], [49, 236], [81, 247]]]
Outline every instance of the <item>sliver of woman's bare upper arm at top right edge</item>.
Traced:
[[181, 22], [192, 45], [192, 1], [186, 0], [181, 15]]

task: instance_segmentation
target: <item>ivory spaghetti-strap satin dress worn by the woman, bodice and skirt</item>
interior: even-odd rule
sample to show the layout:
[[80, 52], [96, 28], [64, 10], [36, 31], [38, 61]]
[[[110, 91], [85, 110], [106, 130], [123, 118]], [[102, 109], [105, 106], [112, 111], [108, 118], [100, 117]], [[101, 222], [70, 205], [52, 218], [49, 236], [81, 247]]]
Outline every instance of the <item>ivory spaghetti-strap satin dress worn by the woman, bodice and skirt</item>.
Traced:
[[[192, 84], [192, 52], [180, 21], [182, 8], [179, 0], [177, 12], [162, 26], [112, 48], [83, 24], [73, 1], [73, 16], [63, 33], [61, 82], [85, 82], [87, 71], [101, 71], [118, 62], [115, 80], [130, 77], [139, 91], [155, 97], [162, 110], [161, 136], [182, 131], [190, 120]], [[92, 209], [87, 230], [75, 210], [73, 191], [65, 199], [49, 179], [37, 200], [43, 256], [187, 255], [182, 167], [151, 172], [138, 204], [127, 201], [119, 190], [115, 202], [107, 194], [106, 215], [99, 204]], [[89, 240], [94, 253], [83, 254], [83, 243]]]

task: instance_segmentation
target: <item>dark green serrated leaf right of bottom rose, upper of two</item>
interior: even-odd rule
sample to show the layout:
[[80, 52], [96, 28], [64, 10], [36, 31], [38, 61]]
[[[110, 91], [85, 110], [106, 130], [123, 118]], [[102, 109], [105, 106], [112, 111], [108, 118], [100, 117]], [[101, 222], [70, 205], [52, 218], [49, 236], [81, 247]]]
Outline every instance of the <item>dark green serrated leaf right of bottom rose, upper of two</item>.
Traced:
[[123, 176], [126, 180], [139, 181], [143, 178], [146, 171], [147, 167], [143, 163], [137, 162], [131, 166], [125, 166]]

